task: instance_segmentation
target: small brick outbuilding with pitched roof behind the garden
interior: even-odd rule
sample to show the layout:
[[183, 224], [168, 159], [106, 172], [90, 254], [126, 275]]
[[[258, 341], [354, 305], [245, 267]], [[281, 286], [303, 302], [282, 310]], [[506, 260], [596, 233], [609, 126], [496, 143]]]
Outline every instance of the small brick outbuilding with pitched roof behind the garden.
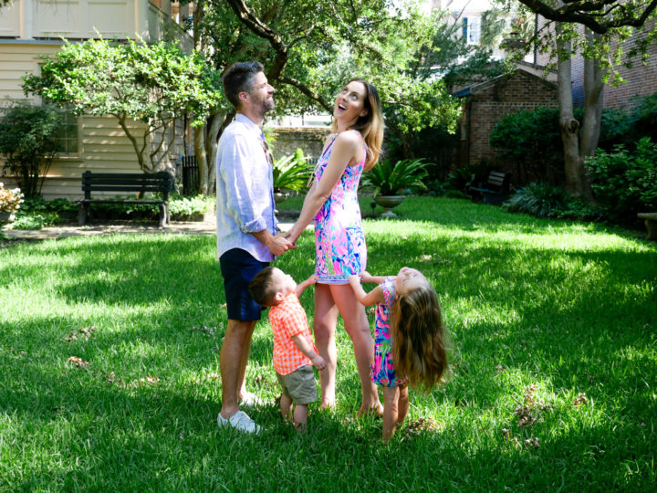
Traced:
[[503, 116], [558, 106], [557, 85], [523, 67], [460, 90], [454, 96], [464, 99], [460, 164], [495, 162], [495, 149], [488, 145], [488, 138]]

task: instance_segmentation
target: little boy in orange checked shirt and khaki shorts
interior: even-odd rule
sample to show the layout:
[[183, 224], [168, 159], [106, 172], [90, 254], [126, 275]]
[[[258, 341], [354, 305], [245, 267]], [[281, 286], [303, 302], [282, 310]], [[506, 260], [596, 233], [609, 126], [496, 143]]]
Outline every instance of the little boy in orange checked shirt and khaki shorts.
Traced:
[[249, 284], [255, 302], [271, 307], [269, 323], [274, 332], [274, 368], [283, 391], [280, 410], [285, 419], [293, 418], [297, 432], [306, 429], [308, 404], [317, 401], [312, 364], [318, 370], [327, 365], [313, 344], [306, 311], [298, 299], [311, 284], [315, 284], [314, 275], [297, 285], [292, 276], [276, 267], [265, 267]]

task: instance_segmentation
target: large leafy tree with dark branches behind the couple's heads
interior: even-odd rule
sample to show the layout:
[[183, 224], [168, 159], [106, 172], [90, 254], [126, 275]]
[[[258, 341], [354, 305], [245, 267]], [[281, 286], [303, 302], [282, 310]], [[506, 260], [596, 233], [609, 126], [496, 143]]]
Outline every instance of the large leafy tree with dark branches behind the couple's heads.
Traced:
[[[454, 131], [459, 105], [444, 84], [416, 84], [412, 77], [415, 55], [431, 44], [437, 28], [412, 5], [408, 0], [201, 0], [194, 10], [194, 38], [197, 51], [219, 71], [237, 60], [263, 62], [277, 91], [278, 113], [332, 111], [333, 95], [346, 79], [361, 77], [379, 89], [384, 107], [400, 116], [403, 128]], [[196, 131], [202, 190], [214, 179], [216, 136], [233, 116], [224, 107]]]

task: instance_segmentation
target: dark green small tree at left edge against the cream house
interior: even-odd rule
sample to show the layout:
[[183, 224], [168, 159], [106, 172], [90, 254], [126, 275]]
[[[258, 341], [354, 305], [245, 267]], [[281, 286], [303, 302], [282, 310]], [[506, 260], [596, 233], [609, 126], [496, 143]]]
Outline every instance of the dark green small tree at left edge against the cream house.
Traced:
[[41, 194], [44, 178], [55, 158], [55, 140], [61, 124], [57, 111], [43, 106], [18, 104], [0, 119], [0, 153], [5, 170], [14, 176], [26, 197]]

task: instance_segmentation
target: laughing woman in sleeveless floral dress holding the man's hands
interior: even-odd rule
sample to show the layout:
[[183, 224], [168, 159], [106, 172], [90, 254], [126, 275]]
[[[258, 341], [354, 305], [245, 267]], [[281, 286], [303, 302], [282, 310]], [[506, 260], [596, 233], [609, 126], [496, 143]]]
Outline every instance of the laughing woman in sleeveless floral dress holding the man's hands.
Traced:
[[362, 389], [361, 414], [382, 414], [376, 386], [370, 380], [374, 341], [365, 308], [349, 286], [349, 276], [365, 270], [367, 249], [360, 222], [360, 174], [379, 159], [383, 141], [381, 100], [377, 90], [361, 79], [350, 80], [333, 108], [333, 132], [318, 161], [315, 181], [301, 214], [287, 233], [293, 243], [315, 219], [315, 341], [327, 367], [319, 372], [321, 407], [336, 400], [338, 313], [354, 347]]

